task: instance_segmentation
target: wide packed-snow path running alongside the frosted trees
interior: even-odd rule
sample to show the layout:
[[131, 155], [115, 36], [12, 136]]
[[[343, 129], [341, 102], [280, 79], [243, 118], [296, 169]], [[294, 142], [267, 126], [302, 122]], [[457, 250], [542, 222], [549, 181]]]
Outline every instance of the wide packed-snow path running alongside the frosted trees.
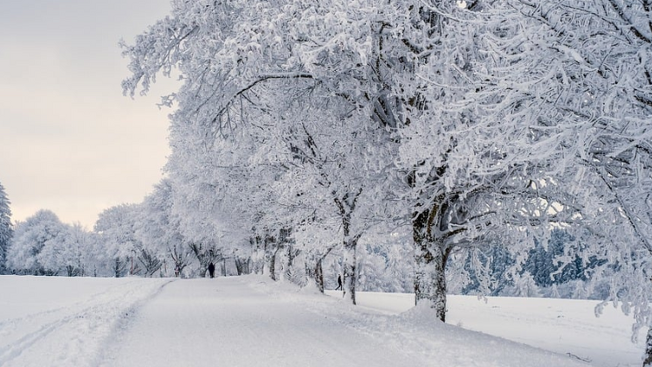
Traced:
[[238, 278], [175, 281], [105, 366], [419, 366], [382, 340]]

